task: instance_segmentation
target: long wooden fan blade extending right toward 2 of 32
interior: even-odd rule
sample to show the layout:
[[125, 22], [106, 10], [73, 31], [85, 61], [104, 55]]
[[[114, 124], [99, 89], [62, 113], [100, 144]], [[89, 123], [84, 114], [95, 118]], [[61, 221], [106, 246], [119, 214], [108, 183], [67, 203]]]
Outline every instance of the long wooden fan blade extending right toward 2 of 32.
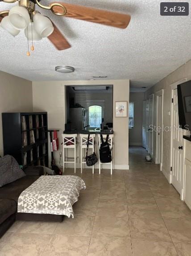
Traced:
[[[71, 17], [74, 19], [84, 20], [87, 22], [100, 23], [107, 26], [114, 26], [118, 28], [126, 28], [129, 25], [131, 16], [122, 13], [113, 13], [100, 9], [75, 5], [65, 4], [61, 2], [55, 2], [53, 4], [62, 4], [66, 8], [65, 17]], [[62, 13], [63, 9], [60, 6], [54, 6], [53, 10], [55, 13]]]

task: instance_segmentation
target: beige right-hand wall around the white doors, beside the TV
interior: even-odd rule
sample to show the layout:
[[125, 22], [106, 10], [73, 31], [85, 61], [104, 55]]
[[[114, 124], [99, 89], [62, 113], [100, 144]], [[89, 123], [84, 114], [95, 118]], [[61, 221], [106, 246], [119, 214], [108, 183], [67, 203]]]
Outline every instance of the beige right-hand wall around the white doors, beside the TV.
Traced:
[[[183, 78], [191, 80], [191, 61], [188, 61], [185, 65], [179, 67], [174, 72], [169, 74], [166, 78], [151, 87], [145, 92], [145, 99], [151, 93], [155, 93], [164, 89], [164, 105], [163, 105], [163, 119], [164, 126], [170, 126], [171, 117], [168, 115], [168, 111], [171, 110], [171, 90], [170, 85], [174, 82], [178, 82]], [[156, 125], [156, 96], [154, 96], [154, 125]], [[154, 157], [156, 155], [156, 133], [154, 133]], [[170, 174], [170, 132], [163, 133], [163, 165], [162, 172], [166, 177]]]

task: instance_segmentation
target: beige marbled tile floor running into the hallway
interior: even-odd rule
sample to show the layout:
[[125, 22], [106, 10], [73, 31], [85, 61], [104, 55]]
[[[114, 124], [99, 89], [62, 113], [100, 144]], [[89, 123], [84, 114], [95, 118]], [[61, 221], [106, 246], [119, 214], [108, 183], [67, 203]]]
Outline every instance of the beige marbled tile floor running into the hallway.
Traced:
[[0, 239], [0, 256], [191, 256], [191, 211], [144, 155], [130, 148], [130, 170], [112, 176], [78, 170], [87, 189], [75, 218], [15, 222]]

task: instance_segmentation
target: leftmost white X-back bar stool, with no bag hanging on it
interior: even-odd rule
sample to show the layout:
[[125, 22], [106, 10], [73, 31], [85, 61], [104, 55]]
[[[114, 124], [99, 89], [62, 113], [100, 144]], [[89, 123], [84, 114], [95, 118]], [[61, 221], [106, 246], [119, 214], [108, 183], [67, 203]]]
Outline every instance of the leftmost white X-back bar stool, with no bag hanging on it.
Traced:
[[[74, 164], [74, 173], [76, 173], [76, 158], [78, 158], [79, 165], [79, 143], [76, 140], [77, 134], [62, 134], [63, 140], [63, 173], [66, 164]], [[74, 148], [74, 157], [67, 157], [67, 149]], [[78, 156], [76, 157], [76, 150], [78, 152]], [[68, 161], [68, 159], [74, 159], [74, 161]]]

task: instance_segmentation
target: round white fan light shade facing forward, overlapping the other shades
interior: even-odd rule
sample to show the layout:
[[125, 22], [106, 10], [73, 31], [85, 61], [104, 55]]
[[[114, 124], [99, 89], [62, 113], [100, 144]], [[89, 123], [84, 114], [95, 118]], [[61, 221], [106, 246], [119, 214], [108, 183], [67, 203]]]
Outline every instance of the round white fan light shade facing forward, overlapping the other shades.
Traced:
[[23, 6], [14, 6], [8, 13], [9, 22], [18, 30], [25, 29], [30, 22], [28, 10]]

